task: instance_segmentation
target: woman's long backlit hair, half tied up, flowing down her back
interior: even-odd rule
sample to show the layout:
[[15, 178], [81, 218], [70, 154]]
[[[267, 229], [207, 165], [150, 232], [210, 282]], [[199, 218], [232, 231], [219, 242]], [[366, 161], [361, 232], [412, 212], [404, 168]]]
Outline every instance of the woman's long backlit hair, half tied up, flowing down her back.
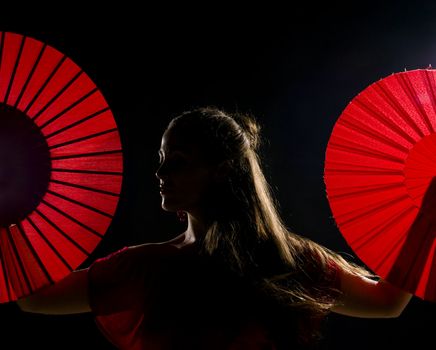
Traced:
[[253, 281], [264, 295], [312, 318], [339, 300], [336, 271], [370, 275], [363, 267], [289, 230], [263, 174], [255, 118], [214, 107], [187, 111], [168, 128], [201, 145], [207, 161], [226, 163], [225, 181], [209, 193], [205, 254]]

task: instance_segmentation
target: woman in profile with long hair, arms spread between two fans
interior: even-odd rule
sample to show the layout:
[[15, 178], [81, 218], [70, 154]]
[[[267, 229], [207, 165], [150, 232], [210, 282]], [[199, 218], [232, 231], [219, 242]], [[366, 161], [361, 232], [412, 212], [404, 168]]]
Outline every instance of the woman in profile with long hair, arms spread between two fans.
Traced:
[[199, 108], [162, 137], [162, 208], [187, 229], [124, 248], [18, 301], [24, 311], [92, 311], [121, 349], [298, 349], [322, 318], [396, 317], [411, 294], [290, 232], [257, 156], [254, 119]]

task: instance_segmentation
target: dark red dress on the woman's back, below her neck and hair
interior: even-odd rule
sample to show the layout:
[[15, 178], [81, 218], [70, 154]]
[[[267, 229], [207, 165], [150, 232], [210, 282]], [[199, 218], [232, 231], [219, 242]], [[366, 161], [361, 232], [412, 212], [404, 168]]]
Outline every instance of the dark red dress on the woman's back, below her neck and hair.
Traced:
[[97, 325], [119, 349], [276, 349], [249, 289], [195, 254], [168, 244], [123, 248], [88, 276]]

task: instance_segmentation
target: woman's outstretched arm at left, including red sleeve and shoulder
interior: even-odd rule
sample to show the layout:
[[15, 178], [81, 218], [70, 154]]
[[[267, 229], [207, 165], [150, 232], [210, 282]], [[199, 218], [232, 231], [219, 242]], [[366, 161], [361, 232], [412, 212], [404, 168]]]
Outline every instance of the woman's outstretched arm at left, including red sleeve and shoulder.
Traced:
[[[43, 314], [111, 313], [125, 309], [144, 295], [143, 281], [150, 274], [150, 257], [173, 251], [172, 244], [124, 247], [76, 270], [64, 279], [17, 301], [23, 311]], [[167, 253], [165, 253], [167, 254]], [[147, 260], [148, 259], [148, 260]], [[133, 294], [132, 294], [133, 293]], [[130, 297], [129, 297], [130, 296]]]

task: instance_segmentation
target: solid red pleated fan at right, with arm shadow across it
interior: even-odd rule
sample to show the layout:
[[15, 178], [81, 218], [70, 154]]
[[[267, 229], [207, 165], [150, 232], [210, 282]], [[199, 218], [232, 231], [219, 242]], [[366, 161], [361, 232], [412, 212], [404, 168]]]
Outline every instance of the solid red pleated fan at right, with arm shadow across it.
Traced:
[[436, 301], [436, 232], [431, 220], [411, 225], [436, 176], [435, 130], [436, 70], [392, 74], [342, 112], [324, 174], [334, 219], [356, 255], [429, 301]]

